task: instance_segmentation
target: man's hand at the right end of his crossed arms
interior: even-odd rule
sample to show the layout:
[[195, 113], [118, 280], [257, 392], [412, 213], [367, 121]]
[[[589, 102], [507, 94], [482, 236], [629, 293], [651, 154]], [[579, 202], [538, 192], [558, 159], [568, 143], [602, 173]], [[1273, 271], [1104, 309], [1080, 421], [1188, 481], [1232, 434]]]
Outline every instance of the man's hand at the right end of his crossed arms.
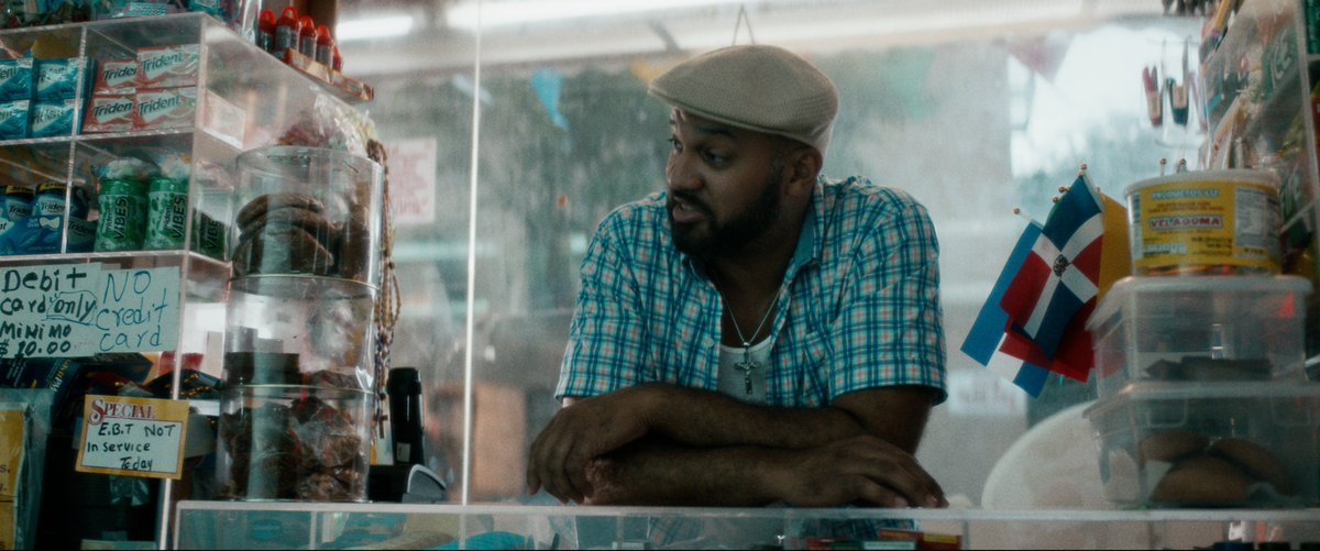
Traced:
[[944, 508], [944, 490], [911, 453], [875, 436], [792, 451], [770, 480], [789, 505]]

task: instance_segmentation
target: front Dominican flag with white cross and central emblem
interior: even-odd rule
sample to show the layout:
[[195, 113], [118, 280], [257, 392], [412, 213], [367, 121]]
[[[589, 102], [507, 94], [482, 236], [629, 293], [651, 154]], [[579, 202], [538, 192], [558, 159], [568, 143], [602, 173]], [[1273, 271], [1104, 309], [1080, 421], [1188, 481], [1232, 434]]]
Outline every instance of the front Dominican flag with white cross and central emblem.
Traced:
[[[1055, 360], [1073, 318], [1088, 303], [1093, 307], [1104, 235], [1101, 196], [1081, 174], [1049, 211], [999, 303], [1008, 315], [1008, 332], [1028, 340], [1043, 360]], [[1085, 319], [1081, 323], [1085, 327]]]

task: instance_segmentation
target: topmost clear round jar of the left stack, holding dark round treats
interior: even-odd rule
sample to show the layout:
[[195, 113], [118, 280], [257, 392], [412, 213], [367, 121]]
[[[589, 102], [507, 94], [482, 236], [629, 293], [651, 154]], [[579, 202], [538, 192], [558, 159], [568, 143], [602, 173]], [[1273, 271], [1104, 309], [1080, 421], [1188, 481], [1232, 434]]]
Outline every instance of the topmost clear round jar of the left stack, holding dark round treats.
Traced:
[[234, 274], [323, 276], [379, 285], [380, 165], [321, 148], [238, 158]]

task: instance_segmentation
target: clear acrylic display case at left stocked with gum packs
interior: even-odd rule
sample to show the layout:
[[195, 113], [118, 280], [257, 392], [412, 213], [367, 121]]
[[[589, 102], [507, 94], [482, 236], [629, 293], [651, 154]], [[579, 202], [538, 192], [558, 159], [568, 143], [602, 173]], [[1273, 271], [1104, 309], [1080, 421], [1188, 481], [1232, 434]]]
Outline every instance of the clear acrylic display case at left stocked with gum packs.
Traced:
[[[0, 59], [0, 65], [29, 65], [24, 59], [30, 58], [34, 67], [33, 82], [25, 84], [30, 88], [17, 92], [32, 95], [26, 125], [21, 130], [0, 129], [0, 178], [15, 196], [30, 191], [36, 198], [57, 188], [62, 194], [61, 208], [48, 212], [45, 224], [33, 223], [41, 233], [21, 243], [11, 240], [9, 248], [0, 245], [4, 254], [0, 269], [21, 274], [46, 266], [51, 270], [84, 266], [81, 269], [98, 273], [164, 270], [153, 273], [177, 277], [177, 286], [162, 287], [158, 304], [162, 314], [153, 326], [156, 339], [144, 340], [139, 334], [133, 340], [135, 335], [125, 331], [123, 341], [100, 339], [91, 345], [100, 347], [100, 352], [190, 359], [199, 370], [219, 377], [231, 277], [226, 241], [235, 237], [235, 160], [246, 150], [288, 141], [351, 148], [354, 144], [346, 141], [354, 140], [352, 132], [335, 127], [334, 121], [360, 117], [352, 107], [360, 94], [309, 78], [203, 13], [9, 29], [0, 32], [0, 57], [9, 58]], [[136, 88], [132, 76], [127, 84], [114, 82], [123, 76], [121, 71], [102, 72], [132, 59], [140, 71]], [[71, 62], [82, 63], [86, 70], [70, 72], [73, 80], [65, 83], [58, 99], [41, 96], [38, 102], [46, 84], [42, 67]], [[132, 107], [124, 107], [123, 102]], [[50, 103], [54, 105], [50, 109], [62, 111], [41, 111], [37, 103]], [[0, 112], [4, 109], [0, 105]], [[143, 196], [145, 185], [137, 191], [115, 186], [107, 166], [125, 158], [152, 162], [162, 169], [156, 175], [173, 177], [172, 182], [160, 183], [161, 194], [173, 194], [170, 202], [165, 195], [157, 196], [154, 181], [149, 183], [149, 196]], [[120, 200], [133, 194], [139, 195], [137, 203]], [[57, 202], [54, 192], [48, 195]], [[125, 245], [123, 239], [132, 231], [115, 225], [120, 208], [166, 210], [173, 216], [174, 233]], [[156, 229], [160, 228], [137, 228], [141, 233]], [[120, 241], [99, 235], [107, 231], [114, 231], [112, 237]], [[87, 319], [75, 319], [74, 326], [100, 331]], [[9, 343], [9, 353], [0, 356], [13, 357], [15, 351], [24, 349], [29, 351], [25, 356], [42, 355], [16, 344]], [[78, 352], [77, 345], [73, 348]], [[58, 345], [54, 352], [61, 352]], [[183, 398], [180, 372], [173, 369], [168, 385], [170, 399]], [[193, 405], [210, 415], [216, 413], [215, 402]], [[203, 424], [198, 430], [214, 428]], [[102, 476], [73, 473], [71, 464], [61, 468], [67, 468], [70, 476]], [[152, 493], [164, 501], [150, 508], [157, 511], [150, 539], [158, 544], [169, 540], [173, 501], [190, 494], [185, 484], [166, 478]], [[45, 497], [61, 498], [51, 493]], [[78, 540], [48, 543], [70, 547]]]

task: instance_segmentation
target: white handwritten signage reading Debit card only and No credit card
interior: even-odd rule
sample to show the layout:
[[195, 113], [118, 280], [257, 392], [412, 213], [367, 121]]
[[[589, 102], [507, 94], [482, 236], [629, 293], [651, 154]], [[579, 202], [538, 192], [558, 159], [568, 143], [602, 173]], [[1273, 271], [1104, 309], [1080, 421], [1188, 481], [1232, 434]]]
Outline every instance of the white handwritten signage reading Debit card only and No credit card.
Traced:
[[178, 281], [177, 266], [0, 268], [0, 357], [174, 349]]

